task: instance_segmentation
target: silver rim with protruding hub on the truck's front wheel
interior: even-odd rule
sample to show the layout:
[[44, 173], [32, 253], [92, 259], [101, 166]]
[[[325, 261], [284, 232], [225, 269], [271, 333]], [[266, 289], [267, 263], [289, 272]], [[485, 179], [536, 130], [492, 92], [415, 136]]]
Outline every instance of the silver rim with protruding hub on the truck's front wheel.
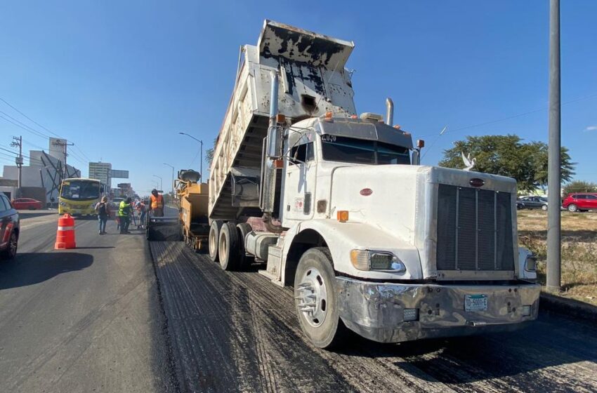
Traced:
[[327, 288], [319, 270], [315, 267], [307, 269], [294, 293], [298, 300], [296, 307], [307, 323], [313, 327], [323, 324], [328, 309]]

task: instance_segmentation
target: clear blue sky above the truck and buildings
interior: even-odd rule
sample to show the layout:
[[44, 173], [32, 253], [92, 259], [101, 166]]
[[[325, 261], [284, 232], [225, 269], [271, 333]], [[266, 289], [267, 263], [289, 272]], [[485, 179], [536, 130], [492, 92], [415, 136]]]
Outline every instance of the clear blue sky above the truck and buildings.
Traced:
[[[562, 144], [581, 180], [597, 181], [597, 1], [562, 1]], [[549, 1], [11, 1], [0, 15], [0, 98], [74, 142], [86, 159], [128, 169], [141, 194], [153, 175], [199, 168], [219, 131], [238, 48], [264, 19], [355, 42], [358, 112], [384, 112], [424, 138], [424, 164], [466, 135], [547, 140]], [[4, 102], [0, 111], [33, 128]], [[533, 112], [537, 111], [537, 112]], [[513, 119], [475, 126], [523, 114]], [[446, 132], [439, 136], [447, 126]], [[465, 130], [460, 130], [466, 128]], [[459, 131], [460, 130], [460, 131]], [[0, 119], [0, 147], [23, 135]], [[0, 156], [0, 164], [11, 161]], [[204, 172], [207, 172], [204, 164]]]

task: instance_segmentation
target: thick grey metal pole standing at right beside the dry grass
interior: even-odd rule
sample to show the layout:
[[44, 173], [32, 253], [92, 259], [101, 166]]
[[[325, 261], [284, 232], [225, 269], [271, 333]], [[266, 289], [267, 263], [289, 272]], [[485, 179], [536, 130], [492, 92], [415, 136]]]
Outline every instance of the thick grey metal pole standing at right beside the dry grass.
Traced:
[[547, 188], [547, 290], [560, 291], [560, 0], [549, 3], [549, 147]]

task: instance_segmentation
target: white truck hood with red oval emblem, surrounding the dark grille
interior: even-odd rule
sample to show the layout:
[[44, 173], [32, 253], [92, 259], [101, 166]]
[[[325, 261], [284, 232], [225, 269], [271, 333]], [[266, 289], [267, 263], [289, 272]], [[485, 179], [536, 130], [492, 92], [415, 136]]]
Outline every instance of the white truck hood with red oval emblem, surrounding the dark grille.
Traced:
[[[348, 211], [349, 222], [367, 222], [414, 245], [424, 276], [435, 277], [438, 189], [471, 189], [473, 183], [475, 188], [509, 193], [512, 205], [516, 201], [516, 181], [504, 176], [436, 166], [347, 166], [332, 172], [329, 213], [335, 218], [336, 211]], [[516, 209], [511, 220], [516, 237]]]

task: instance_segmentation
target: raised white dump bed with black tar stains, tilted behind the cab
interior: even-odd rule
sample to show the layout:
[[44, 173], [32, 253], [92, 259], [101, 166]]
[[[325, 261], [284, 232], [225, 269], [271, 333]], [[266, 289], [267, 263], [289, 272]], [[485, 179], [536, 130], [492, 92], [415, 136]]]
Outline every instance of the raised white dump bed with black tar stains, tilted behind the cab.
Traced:
[[214, 149], [209, 218], [260, 216], [258, 187], [268, 131], [271, 74], [277, 73], [278, 112], [292, 123], [332, 112], [356, 113], [350, 72], [354, 44], [266, 20], [258, 45], [242, 48], [243, 62]]

